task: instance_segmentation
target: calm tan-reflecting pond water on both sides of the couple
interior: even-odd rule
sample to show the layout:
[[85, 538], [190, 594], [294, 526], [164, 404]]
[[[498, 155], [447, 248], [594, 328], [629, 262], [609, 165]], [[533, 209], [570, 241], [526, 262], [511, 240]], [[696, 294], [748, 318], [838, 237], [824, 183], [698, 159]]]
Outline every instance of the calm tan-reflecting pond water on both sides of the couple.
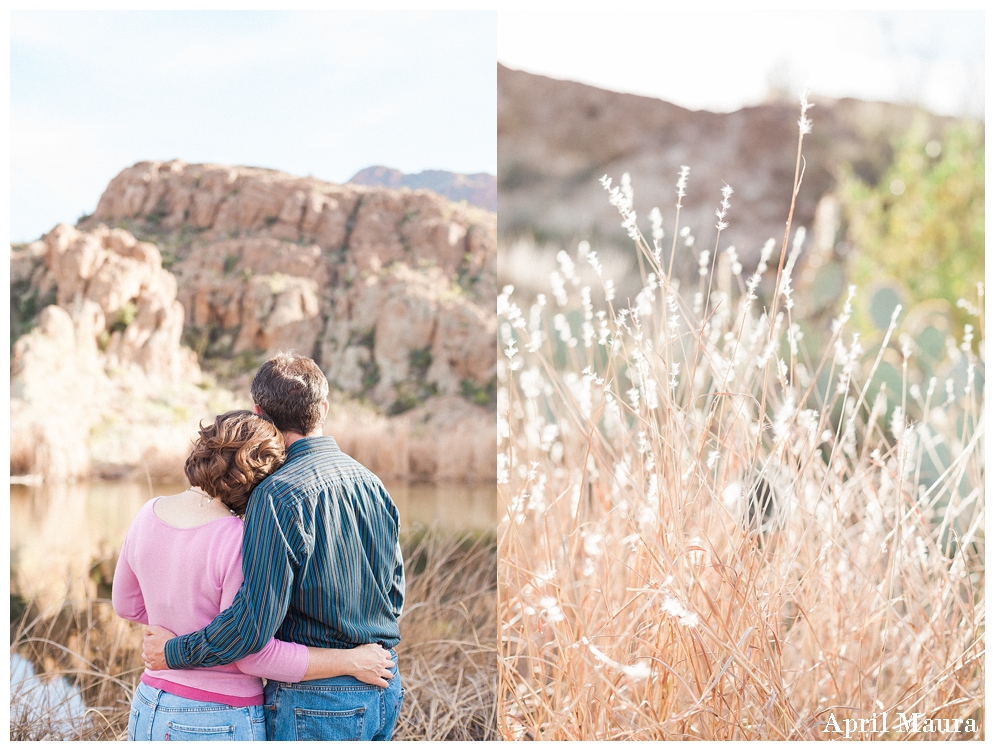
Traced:
[[[402, 527], [454, 533], [493, 530], [494, 485], [385, 482]], [[131, 520], [149, 498], [186, 485], [92, 482], [10, 486], [11, 587], [27, 599], [59, 602], [93, 596], [109, 581]], [[94, 567], [97, 567], [93, 571]]]

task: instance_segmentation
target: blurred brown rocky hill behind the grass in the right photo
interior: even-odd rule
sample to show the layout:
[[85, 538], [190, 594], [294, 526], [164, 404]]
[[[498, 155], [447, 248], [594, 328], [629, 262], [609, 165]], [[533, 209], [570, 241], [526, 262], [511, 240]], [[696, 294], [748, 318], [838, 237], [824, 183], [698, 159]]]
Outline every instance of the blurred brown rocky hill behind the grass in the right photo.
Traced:
[[[691, 111], [500, 65], [497, 81], [503, 241], [522, 235], [540, 243], [593, 238], [628, 249], [618, 212], [598, 183], [608, 174], [618, 184], [628, 172], [641, 224], [648, 226], [646, 217], [658, 206], [669, 247], [682, 165], [691, 173], [680, 224], [705, 247], [705, 236], [714, 238], [714, 212], [726, 184], [735, 193], [723, 248], [735, 245], [742, 259], [755, 263], [767, 238], [783, 237], [798, 143], [796, 103]], [[875, 181], [891, 160], [892, 140], [916, 118], [934, 129], [945, 121], [907, 106], [814, 101], [795, 226], [811, 228], [820, 199], [844, 165]], [[696, 261], [685, 260], [687, 272]]]

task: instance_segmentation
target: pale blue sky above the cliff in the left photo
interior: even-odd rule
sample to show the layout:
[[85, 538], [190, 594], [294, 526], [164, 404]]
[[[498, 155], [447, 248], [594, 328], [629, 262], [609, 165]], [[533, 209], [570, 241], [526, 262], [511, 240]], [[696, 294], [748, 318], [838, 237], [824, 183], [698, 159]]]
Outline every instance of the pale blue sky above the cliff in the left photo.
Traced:
[[14, 12], [11, 239], [143, 160], [493, 174], [496, 38], [492, 11]]

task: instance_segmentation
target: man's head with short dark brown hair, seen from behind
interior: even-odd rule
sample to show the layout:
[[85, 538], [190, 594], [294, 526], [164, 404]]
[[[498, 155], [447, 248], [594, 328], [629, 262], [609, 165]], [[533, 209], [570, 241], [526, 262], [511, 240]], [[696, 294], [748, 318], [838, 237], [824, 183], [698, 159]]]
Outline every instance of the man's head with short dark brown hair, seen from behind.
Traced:
[[308, 435], [322, 420], [328, 380], [310, 357], [280, 352], [259, 368], [251, 390], [276, 427]]

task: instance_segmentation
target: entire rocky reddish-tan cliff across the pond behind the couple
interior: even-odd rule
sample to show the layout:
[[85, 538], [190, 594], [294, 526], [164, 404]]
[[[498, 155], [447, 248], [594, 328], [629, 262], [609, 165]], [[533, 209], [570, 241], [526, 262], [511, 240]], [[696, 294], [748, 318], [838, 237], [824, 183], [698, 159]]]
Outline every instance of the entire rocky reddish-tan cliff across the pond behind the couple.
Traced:
[[[89, 432], [93, 444], [95, 426], [106, 422], [100, 405], [115, 403], [122, 372], [132, 374], [129, 388], [149, 395], [167, 383], [197, 390], [199, 358], [208, 371], [199, 391], [217, 407], [244, 403], [258, 363], [290, 349], [319, 362], [342, 405], [365, 400], [384, 431], [404, 434], [388, 474], [435, 477], [439, 467], [409, 454], [435, 450], [436, 423], [458, 423], [464, 438], [493, 425], [495, 255], [493, 213], [428, 191], [137, 164], [76, 228], [60, 225], [12, 250], [18, 415], [57, 411], [30, 384], [63, 351], [87, 363], [81, 372], [98, 384], [95, 417], [80, 419], [74, 433], [85, 445], [81, 437]], [[79, 369], [76, 360], [68, 369]], [[177, 398], [184, 414], [218, 411], [205, 399]], [[464, 441], [463, 467], [446, 465], [445, 476], [493, 476], [493, 430], [485, 432], [486, 441]], [[52, 473], [51, 462], [19, 451], [12, 473]], [[80, 458], [59, 472], [99, 472], [105, 457], [89, 453], [89, 468]]]

